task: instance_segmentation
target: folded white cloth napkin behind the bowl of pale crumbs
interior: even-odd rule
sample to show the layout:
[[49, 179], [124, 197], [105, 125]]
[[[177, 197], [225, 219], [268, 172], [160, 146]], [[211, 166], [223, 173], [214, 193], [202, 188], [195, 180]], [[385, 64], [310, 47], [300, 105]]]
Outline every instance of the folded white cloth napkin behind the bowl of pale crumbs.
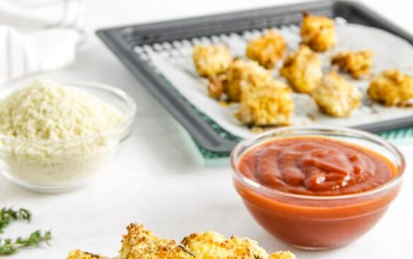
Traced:
[[74, 61], [83, 0], [0, 1], [0, 84]]

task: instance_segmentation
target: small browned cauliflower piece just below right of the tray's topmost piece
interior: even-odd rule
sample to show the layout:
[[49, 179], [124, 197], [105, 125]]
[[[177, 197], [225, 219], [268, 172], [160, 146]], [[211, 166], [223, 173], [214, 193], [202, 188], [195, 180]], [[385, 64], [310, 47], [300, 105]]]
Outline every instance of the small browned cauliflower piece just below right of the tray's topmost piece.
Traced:
[[370, 74], [372, 62], [372, 50], [339, 52], [331, 61], [331, 63], [337, 65], [341, 71], [346, 71], [351, 74], [354, 79], [360, 79], [361, 76]]

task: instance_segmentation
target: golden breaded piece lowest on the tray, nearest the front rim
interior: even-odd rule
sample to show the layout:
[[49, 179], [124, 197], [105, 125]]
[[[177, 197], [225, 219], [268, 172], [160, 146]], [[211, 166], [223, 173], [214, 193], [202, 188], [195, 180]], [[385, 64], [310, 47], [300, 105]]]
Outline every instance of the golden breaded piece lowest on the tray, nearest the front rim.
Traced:
[[240, 95], [240, 108], [235, 117], [245, 125], [289, 125], [293, 113], [291, 88], [280, 81], [245, 86]]

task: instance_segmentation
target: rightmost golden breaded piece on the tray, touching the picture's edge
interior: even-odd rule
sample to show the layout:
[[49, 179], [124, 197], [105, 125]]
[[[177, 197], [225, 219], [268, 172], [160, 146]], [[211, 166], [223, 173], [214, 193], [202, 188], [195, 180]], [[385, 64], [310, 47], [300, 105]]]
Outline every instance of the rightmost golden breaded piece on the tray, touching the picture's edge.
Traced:
[[368, 86], [368, 96], [386, 106], [411, 106], [413, 77], [397, 69], [383, 71]]

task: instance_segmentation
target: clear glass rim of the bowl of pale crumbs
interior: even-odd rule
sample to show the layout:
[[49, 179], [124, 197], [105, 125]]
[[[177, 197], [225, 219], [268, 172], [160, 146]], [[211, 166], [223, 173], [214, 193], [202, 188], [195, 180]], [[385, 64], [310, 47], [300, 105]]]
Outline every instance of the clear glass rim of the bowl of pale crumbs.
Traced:
[[[84, 137], [74, 137], [72, 139], [21, 139], [18, 137], [9, 137], [0, 134], [0, 141], [1, 142], [18, 142], [18, 143], [33, 143], [33, 144], [56, 144], [56, 143], [70, 143], [70, 142], [84, 142], [87, 140], [91, 139], [96, 139], [99, 137], [105, 137], [107, 135], [112, 134], [113, 132], [117, 132], [120, 129], [122, 130], [120, 132], [120, 135], [122, 135], [127, 129], [129, 128], [130, 125], [133, 124], [134, 122], [134, 117], [136, 115], [136, 103], [132, 96], [129, 96], [128, 93], [125, 91], [121, 90], [120, 88], [117, 88], [115, 86], [110, 86], [108, 84], [102, 84], [102, 83], [97, 83], [97, 82], [92, 82], [92, 81], [76, 81], [76, 80], [67, 80], [67, 79], [36, 79], [40, 81], [51, 81], [53, 84], [59, 84], [64, 87], [69, 87], [69, 88], [78, 88], [80, 91], [88, 93], [87, 90], [83, 90], [82, 88], [95, 88], [99, 90], [106, 91], [107, 93], [112, 93], [115, 96], [119, 97], [124, 101], [124, 103], [127, 105], [127, 113], [124, 113], [124, 119], [122, 122], [117, 125], [116, 127], [112, 127], [110, 129], [105, 129], [102, 132], [98, 132], [95, 134], [91, 134], [88, 136]], [[82, 88], [76, 87], [76, 86], [82, 86]], [[6, 96], [9, 96], [12, 93], [15, 93], [16, 91], [27, 88], [29, 87], [28, 85], [25, 86], [7, 86], [5, 88], [2, 88], [0, 90], [0, 101], [3, 100]], [[2, 93], [5, 93], [9, 91], [8, 95], [5, 97], [2, 96]], [[95, 97], [98, 98], [98, 97]], [[100, 98], [98, 98], [100, 100]], [[103, 102], [112, 105], [111, 103], [108, 103], [105, 100], [102, 100]]]

